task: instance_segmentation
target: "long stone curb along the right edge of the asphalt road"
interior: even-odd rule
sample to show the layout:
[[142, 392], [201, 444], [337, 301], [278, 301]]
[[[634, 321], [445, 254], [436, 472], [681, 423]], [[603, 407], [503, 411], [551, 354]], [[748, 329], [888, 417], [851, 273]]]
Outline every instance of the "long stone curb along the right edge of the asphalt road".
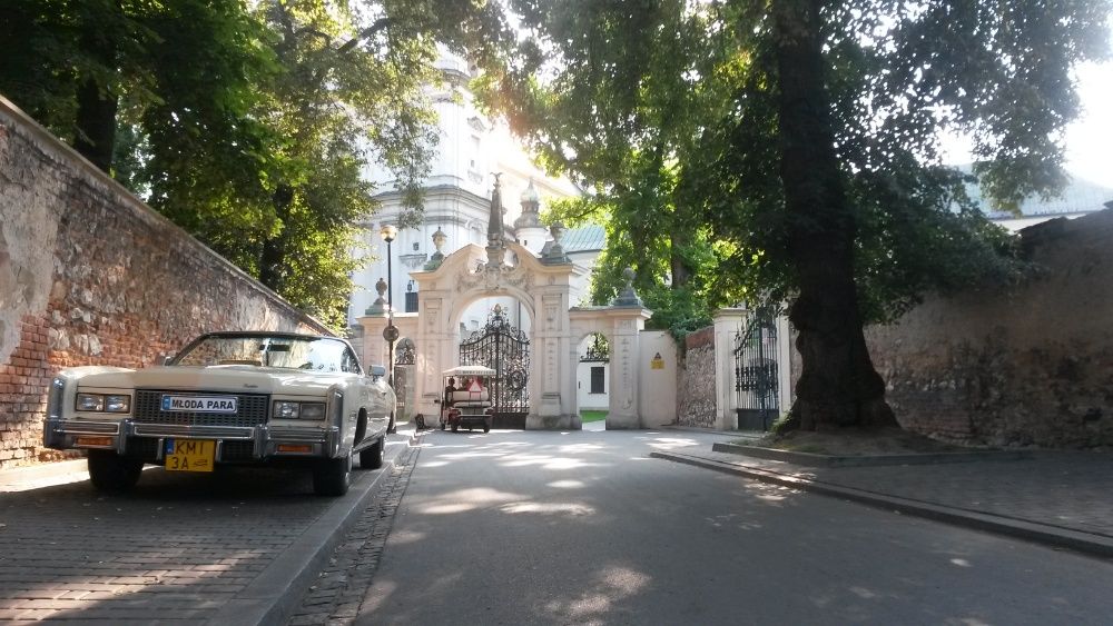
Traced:
[[767, 469], [743, 467], [733, 463], [708, 459], [680, 453], [654, 451], [650, 453], [649, 456], [692, 465], [696, 467], [702, 467], [706, 469], [725, 471], [727, 474], [736, 474], [755, 480], [760, 480], [762, 483], [771, 483], [774, 485], [781, 485], [825, 496], [843, 498], [885, 510], [898, 511], [937, 521], [946, 521], [948, 524], [974, 528], [976, 530], [1008, 535], [1020, 539], [1053, 547], [1068, 548], [1080, 553], [1105, 558], [1113, 557], [1113, 538], [1105, 537], [1103, 535], [1082, 533], [1048, 524], [1026, 521], [1023, 519], [992, 515], [976, 510], [936, 505], [910, 498], [903, 498], [899, 496], [867, 491], [864, 489], [840, 487], [818, 480], [786, 476]]

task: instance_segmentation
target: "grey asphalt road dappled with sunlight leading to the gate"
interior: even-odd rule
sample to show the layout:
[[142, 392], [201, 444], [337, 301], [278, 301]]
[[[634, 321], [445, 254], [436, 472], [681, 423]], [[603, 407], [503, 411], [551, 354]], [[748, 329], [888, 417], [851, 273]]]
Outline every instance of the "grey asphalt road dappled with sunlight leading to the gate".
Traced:
[[1113, 563], [649, 458], [435, 431], [357, 624], [1109, 624]]

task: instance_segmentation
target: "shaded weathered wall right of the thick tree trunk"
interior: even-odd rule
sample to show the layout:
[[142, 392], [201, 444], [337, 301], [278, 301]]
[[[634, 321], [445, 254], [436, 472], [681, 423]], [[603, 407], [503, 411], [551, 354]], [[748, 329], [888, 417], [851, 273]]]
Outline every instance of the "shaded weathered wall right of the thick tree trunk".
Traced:
[[1004, 446], [1113, 446], [1113, 211], [1025, 229], [1040, 271], [1009, 291], [929, 298], [867, 330], [909, 429]]

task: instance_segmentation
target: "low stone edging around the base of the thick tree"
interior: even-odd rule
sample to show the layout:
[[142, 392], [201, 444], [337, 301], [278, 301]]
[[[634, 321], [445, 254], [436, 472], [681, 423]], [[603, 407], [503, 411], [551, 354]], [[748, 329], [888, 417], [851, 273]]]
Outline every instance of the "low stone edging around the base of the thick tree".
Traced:
[[932, 465], [972, 460], [1021, 460], [1032, 458], [1027, 450], [972, 450], [961, 453], [877, 454], [869, 456], [835, 456], [814, 453], [777, 450], [741, 444], [713, 444], [711, 451], [743, 455], [769, 460], [782, 460], [806, 467], [873, 467], [880, 465]]

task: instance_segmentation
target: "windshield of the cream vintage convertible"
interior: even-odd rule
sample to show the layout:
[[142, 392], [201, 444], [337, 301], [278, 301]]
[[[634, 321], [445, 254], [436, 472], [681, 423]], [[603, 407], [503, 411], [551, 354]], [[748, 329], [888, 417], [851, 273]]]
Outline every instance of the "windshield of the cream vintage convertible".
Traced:
[[207, 336], [187, 347], [174, 365], [254, 365], [314, 371], [359, 371], [354, 355], [343, 341], [283, 335]]

